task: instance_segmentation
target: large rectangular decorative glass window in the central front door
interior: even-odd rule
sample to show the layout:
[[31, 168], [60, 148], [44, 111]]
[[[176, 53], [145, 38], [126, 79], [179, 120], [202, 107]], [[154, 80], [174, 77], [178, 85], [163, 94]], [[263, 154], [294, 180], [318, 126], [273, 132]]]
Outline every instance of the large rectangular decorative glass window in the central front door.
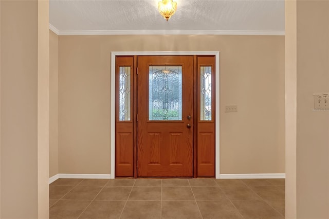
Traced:
[[150, 66], [149, 120], [181, 120], [181, 66]]

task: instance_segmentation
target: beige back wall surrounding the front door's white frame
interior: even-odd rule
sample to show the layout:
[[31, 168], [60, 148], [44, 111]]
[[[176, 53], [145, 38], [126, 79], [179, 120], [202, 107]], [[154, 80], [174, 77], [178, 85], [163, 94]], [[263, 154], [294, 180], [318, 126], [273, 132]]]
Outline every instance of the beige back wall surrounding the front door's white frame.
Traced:
[[284, 36], [104, 35], [59, 36], [60, 173], [110, 173], [111, 51], [179, 50], [221, 52], [221, 173], [285, 172]]

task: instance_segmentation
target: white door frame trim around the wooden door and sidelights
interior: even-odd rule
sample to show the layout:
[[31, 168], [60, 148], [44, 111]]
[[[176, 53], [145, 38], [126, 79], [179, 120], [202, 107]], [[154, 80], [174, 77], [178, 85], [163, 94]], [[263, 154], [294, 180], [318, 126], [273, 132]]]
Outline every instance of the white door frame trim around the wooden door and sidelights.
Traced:
[[115, 66], [116, 56], [215, 56], [215, 178], [220, 178], [220, 52], [219, 51], [127, 51], [111, 52], [111, 123], [110, 123], [110, 150], [111, 173], [115, 178]]

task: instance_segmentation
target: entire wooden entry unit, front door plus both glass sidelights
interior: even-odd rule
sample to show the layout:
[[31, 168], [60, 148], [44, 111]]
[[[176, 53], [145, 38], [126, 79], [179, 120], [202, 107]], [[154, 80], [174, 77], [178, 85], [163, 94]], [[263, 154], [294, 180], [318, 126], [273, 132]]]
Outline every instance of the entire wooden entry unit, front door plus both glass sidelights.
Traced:
[[214, 56], [115, 63], [115, 176], [214, 177]]

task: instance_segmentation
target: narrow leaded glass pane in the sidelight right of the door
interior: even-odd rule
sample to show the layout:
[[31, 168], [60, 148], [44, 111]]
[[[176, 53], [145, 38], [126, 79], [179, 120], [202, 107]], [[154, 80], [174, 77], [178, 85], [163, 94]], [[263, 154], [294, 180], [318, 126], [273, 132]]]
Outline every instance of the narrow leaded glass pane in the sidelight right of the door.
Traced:
[[211, 121], [211, 66], [200, 67], [200, 120]]

